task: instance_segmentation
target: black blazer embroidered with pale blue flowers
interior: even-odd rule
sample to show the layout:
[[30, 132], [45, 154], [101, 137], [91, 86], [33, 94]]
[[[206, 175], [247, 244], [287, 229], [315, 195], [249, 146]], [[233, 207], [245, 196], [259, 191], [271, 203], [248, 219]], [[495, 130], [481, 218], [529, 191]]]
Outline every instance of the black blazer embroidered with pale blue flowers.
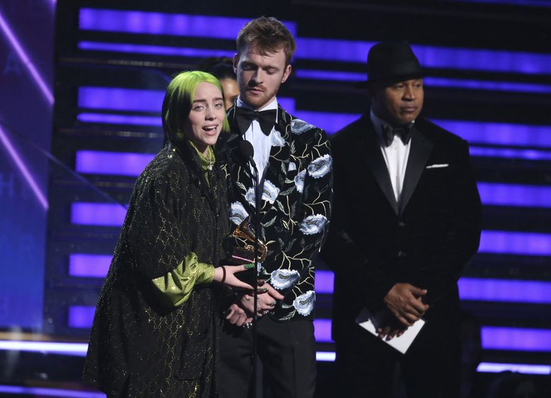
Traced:
[[[243, 138], [235, 121], [235, 107], [228, 111], [228, 120], [230, 133], [220, 138], [218, 159], [227, 174], [228, 216], [233, 231], [249, 216], [254, 225], [255, 198], [254, 177], [239, 151]], [[271, 133], [261, 198], [260, 239], [268, 253], [260, 264], [260, 275], [285, 296], [271, 316], [290, 320], [297, 315], [309, 317], [314, 309], [312, 258], [328, 230], [333, 163], [321, 128], [291, 116], [281, 107], [277, 120]], [[243, 242], [228, 238], [227, 243], [242, 246]]]

